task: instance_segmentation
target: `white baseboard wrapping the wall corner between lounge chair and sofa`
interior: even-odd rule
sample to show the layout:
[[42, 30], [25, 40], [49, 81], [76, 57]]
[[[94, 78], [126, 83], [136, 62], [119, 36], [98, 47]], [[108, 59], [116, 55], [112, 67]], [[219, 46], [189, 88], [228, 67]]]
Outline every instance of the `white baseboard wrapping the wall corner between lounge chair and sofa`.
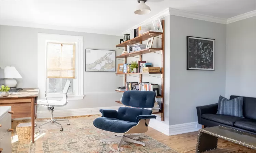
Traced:
[[184, 124], [167, 125], [156, 119], [151, 119], [149, 126], [165, 135], [176, 135], [188, 132], [194, 132], [201, 129], [201, 125], [198, 122], [190, 122]]

